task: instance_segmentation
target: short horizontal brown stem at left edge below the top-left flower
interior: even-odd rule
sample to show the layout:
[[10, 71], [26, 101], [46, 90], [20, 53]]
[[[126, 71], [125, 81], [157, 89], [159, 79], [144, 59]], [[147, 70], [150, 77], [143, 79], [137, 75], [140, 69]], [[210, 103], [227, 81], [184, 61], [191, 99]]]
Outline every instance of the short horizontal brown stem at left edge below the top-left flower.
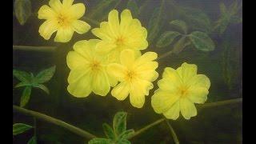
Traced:
[[13, 45], [13, 50], [31, 50], [31, 51], [44, 51], [51, 52], [56, 50], [55, 46], [16, 46]]

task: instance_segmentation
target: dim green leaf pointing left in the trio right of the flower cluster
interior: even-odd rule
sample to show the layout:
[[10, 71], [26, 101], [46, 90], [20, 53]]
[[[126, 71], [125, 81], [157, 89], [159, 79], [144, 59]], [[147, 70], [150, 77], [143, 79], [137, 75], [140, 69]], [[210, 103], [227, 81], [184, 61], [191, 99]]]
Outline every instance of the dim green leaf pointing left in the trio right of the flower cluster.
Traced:
[[176, 31], [166, 31], [160, 35], [158, 42], [156, 43], [157, 47], [166, 47], [169, 46], [174, 39], [177, 38], [180, 34]]

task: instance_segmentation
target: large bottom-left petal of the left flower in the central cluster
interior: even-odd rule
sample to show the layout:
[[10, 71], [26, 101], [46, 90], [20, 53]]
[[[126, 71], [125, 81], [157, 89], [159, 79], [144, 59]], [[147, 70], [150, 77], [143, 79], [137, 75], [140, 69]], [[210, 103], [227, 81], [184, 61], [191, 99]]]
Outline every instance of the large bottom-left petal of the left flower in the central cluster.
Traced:
[[82, 78], [79, 78], [77, 82], [74, 82], [67, 86], [67, 90], [70, 94], [77, 98], [87, 97], [91, 91], [91, 75], [88, 73]]

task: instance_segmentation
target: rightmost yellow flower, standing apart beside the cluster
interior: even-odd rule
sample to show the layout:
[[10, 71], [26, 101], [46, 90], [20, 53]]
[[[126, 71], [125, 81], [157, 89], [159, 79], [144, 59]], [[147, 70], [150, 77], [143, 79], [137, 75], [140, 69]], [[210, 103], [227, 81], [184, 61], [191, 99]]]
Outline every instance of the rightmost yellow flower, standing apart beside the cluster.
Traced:
[[197, 74], [196, 65], [184, 62], [177, 70], [166, 67], [158, 86], [151, 98], [154, 111], [174, 120], [181, 111], [184, 118], [190, 119], [197, 115], [194, 103], [206, 102], [210, 80]]

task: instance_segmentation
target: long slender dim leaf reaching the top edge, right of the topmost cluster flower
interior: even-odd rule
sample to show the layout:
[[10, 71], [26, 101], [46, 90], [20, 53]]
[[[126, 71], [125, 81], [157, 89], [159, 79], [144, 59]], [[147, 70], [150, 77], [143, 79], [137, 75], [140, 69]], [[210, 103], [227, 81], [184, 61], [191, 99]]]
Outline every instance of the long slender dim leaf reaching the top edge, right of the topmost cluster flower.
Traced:
[[148, 40], [150, 42], [154, 41], [154, 38], [156, 38], [162, 28], [162, 22], [163, 22], [163, 3], [164, 0], [162, 0], [162, 4], [160, 7], [156, 7], [153, 11], [153, 14], [150, 18], [150, 22], [147, 26], [148, 30]]

